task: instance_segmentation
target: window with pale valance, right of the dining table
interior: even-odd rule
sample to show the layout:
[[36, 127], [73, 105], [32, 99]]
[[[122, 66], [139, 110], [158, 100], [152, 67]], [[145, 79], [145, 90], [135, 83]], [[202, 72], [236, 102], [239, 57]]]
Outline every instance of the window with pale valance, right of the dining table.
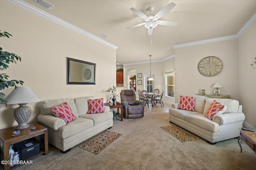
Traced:
[[164, 73], [165, 77], [165, 96], [174, 98], [174, 71]]

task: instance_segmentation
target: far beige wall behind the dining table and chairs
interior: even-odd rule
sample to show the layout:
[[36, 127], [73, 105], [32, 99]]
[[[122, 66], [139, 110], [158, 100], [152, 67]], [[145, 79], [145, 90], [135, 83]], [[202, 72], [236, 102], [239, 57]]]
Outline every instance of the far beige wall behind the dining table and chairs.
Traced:
[[[165, 90], [165, 79], [164, 73], [174, 70], [174, 58], [168, 59], [161, 62], [151, 62], [151, 74], [154, 74], [154, 89], [158, 88], [160, 92]], [[150, 63], [146, 64], [134, 64], [134, 65], [125, 65], [124, 66], [124, 83], [129, 85], [128, 78], [134, 75], [136, 71], [136, 89], [144, 89], [144, 75], [150, 74]], [[142, 78], [138, 78], [138, 73], [142, 73]], [[138, 80], [142, 80], [142, 85], [138, 85]], [[126, 85], [127, 87], [129, 87]], [[138, 98], [138, 93], [137, 93]], [[174, 98], [165, 97], [163, 98], [164, 102], [174, 103]]]

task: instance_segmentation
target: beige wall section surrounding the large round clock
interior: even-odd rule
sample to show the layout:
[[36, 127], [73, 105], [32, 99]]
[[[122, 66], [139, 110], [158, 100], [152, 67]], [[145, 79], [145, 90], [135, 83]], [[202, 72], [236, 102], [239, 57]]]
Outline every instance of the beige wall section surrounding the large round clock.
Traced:
[[[221, 72], [215, 76], [203, 76], [198, 72], [198, 63], [208, 56], [218, 57], [223, 64]], [[213, 94], [215, 83], [220, 83], [221, 94], [230, 95], [238, 100], [238, 39], [230, 39], [201, 45], [192, 45], [175, 49], [175, 101], [180, 95]]]

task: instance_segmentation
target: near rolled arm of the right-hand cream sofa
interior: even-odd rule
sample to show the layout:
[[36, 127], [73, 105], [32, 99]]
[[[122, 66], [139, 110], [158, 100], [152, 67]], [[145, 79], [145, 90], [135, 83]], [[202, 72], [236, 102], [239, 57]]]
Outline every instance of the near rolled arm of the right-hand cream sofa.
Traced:
[[238, 113], [224, 113], [221, 115], [214, 115], [212, 118], [212, 121], [218, 123], [219, 125], [227, 125], [230, 123], [238, 122], [238, 121], [244, 121], [245, 116], [244, 113], [238, 112]]

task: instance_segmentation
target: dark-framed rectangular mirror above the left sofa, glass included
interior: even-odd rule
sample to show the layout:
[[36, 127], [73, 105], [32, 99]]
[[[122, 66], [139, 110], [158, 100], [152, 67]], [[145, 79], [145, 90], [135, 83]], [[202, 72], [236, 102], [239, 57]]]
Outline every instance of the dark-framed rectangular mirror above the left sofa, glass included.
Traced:
[[67, 57], [67, 84], [95, 84], [96, 64]]

